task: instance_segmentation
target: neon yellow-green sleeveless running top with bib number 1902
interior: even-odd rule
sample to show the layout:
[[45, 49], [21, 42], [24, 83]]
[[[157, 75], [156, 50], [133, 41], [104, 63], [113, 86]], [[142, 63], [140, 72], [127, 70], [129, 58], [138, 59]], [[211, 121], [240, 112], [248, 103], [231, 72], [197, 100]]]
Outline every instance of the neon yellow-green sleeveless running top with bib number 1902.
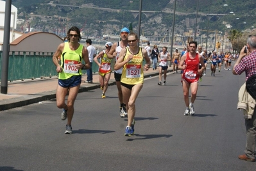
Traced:
[[58, 79], [68, 79], [72, 76], [80, 76], [81, 69], [76, 69], [76, 64], [81, 62], [83, 45], [79, 45], [75, 51], [69, 48], [69, 42], [65, 42], [61, 56], [62, 72], [58, 73]]

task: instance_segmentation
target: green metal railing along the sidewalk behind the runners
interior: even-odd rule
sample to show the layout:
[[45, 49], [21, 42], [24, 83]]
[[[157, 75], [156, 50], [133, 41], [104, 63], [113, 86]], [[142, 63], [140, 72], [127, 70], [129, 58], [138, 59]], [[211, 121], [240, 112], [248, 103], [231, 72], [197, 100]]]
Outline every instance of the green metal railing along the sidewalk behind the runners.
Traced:
[[[3, 51], [0, 51], [0, 70], [2, 59]], [[53, 53], [11, 51], [9, 54], [8, 81], [56, 76], [56, 67], [52, 59]], [[92, 63], [92, 72], [98, 72], [98, 65], [94, 62]], [[86, 74], [86, 70], [83, 70], [83, 74]]]

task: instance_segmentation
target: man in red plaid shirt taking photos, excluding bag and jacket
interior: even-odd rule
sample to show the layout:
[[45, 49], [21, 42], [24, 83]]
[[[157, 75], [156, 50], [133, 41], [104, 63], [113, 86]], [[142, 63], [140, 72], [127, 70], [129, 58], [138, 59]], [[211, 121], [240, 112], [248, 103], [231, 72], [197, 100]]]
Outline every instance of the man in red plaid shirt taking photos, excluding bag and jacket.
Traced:
[[[248, 55], [247, 55], [248, 54]], [[247, 45], [244, 45], [235, 62], [232, 70], [234, 75], [241, 75], [245, 72], [246, 80], [248, 77], [256, 74], [256, 35], [250, 35], [247, 39]], [[251, 119], [245, 119], [246, 126], [246, 147], [245, 154], [239, 155], [239, 159], [245, 161], [255, 161], [256, 147], [256, 110], [253, 111]]]

